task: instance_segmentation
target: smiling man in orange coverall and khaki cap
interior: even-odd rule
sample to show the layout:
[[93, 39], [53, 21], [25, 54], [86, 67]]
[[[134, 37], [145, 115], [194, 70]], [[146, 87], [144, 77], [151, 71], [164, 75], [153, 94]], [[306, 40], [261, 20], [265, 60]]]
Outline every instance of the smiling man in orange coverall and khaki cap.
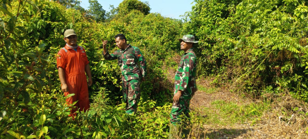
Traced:
[[[86, 111], [90, 108], [88, 86], [92, 85], [92, 75], [90, 71], [89, 61], [83, 47], [77, 45], [77, 34], [74, 30], [68, 29], [64, 32], [65, 46], [58, 52], [57, 68], [59, 71], [59, 79], [61, 81], [61, 89], [64, 96], [74, 93], [66, 99], [68, 104], [78, 101], [71, 110], [74, 118], [77, 109]], [[88, 83], [87, 77], [88, 75]]]

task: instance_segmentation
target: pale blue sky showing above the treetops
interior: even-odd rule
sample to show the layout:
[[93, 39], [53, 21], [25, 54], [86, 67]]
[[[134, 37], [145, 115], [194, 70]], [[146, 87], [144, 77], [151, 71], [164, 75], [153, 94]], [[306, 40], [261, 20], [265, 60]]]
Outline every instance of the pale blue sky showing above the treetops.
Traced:
[[[99, 4], [102, 5], [103, 9], [106, 12], [110, 11], [110, 6], [113, 5], [115, 8], [119, 6], [119, 4], [123, 0], [97, 0]], [[149, 2], [150, 12], [160, 13], [164, 17], [170, 17], [175, 19], [182, 19], [179, 17], [180, 15], [184, 15], [185, 12], [191, 11], [191, 4], [193, 0], [140, 0], [141, 2]], [[81, 0], [80, 6], [88, 9], [89, 2], [88, 0]]]

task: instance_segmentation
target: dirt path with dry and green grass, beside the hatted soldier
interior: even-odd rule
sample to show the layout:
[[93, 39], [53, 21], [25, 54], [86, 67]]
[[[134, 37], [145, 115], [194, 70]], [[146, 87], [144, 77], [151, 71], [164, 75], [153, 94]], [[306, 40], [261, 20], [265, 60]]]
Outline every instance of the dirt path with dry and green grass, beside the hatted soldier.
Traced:
[[[168, 81], [174, 82], [174, 72], [169, 70]], [[227, 87], [216, 88], [209, 79], [198, 80], [199, 90], [191, 100], [190, 108], [196, 116], [205, 121], [199, 129], [197, 138], [209, 139], [308, 139], [307, 104], [291, 97], [273, 98], [270, 104], [263, 100], [252, 100], [231, 93]], [[266, 96], [271, 98], [272, 96]], [[234, 111], [230, 107], [234, 106]], [[264, 106], [265, 105], [265, 106]], [[265, 110], [259, 116], [245, 117], [244, 113], [258, 107]], [[236, 109], [240, 108], [240, 109]], [[248, 110], [246, 110], [247, 108]], [[293, 108], [299, 108], [294, 111]], [[243, 112], [235, 112], [235, 111]], [[229, 113], [239, 113], [233, 115]], [[242, 117], [242, 118], [239, 118]], [[236, 121], [241, 119], [242, 121]], [[243, 121], [244, 119], [244, 121]], [[305, 133], [307, 132], [307, 133]], [[192, 137], [194, 138], [194, 137]]]

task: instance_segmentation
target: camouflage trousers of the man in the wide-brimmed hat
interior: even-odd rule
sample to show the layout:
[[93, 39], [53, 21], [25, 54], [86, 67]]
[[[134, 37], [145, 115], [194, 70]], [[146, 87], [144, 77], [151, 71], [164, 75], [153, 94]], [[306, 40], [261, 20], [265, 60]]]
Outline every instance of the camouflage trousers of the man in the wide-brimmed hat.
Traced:
[[[170, 122], [171, 124], [176, 124], [178, 122], [183, 121], [184, 119], [190, 118], [189, 116], [189, 103], [191, 98], [183, 99], [182, 97], [179, 99], [177, 103], [173, 102], [172, 109], [170, 113]], [[183, 115], [184, 114], [184, 115]], [[182, 119], [184, 118], [184, 119]]]

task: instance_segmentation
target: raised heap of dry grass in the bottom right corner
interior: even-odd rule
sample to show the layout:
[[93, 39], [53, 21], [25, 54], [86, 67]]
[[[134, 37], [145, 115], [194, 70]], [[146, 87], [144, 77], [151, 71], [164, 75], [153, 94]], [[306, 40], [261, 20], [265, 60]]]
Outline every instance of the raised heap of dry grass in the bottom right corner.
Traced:
[[[293, 108], [299, 108], [297, 111]], [[303, 113], [301, 113], [303, 112]], [[307, 105], [288, 96], [280, 96], [272, 103], [271, 111], [263, 114], [254, 130], [244, 138], [307, 139]]]

